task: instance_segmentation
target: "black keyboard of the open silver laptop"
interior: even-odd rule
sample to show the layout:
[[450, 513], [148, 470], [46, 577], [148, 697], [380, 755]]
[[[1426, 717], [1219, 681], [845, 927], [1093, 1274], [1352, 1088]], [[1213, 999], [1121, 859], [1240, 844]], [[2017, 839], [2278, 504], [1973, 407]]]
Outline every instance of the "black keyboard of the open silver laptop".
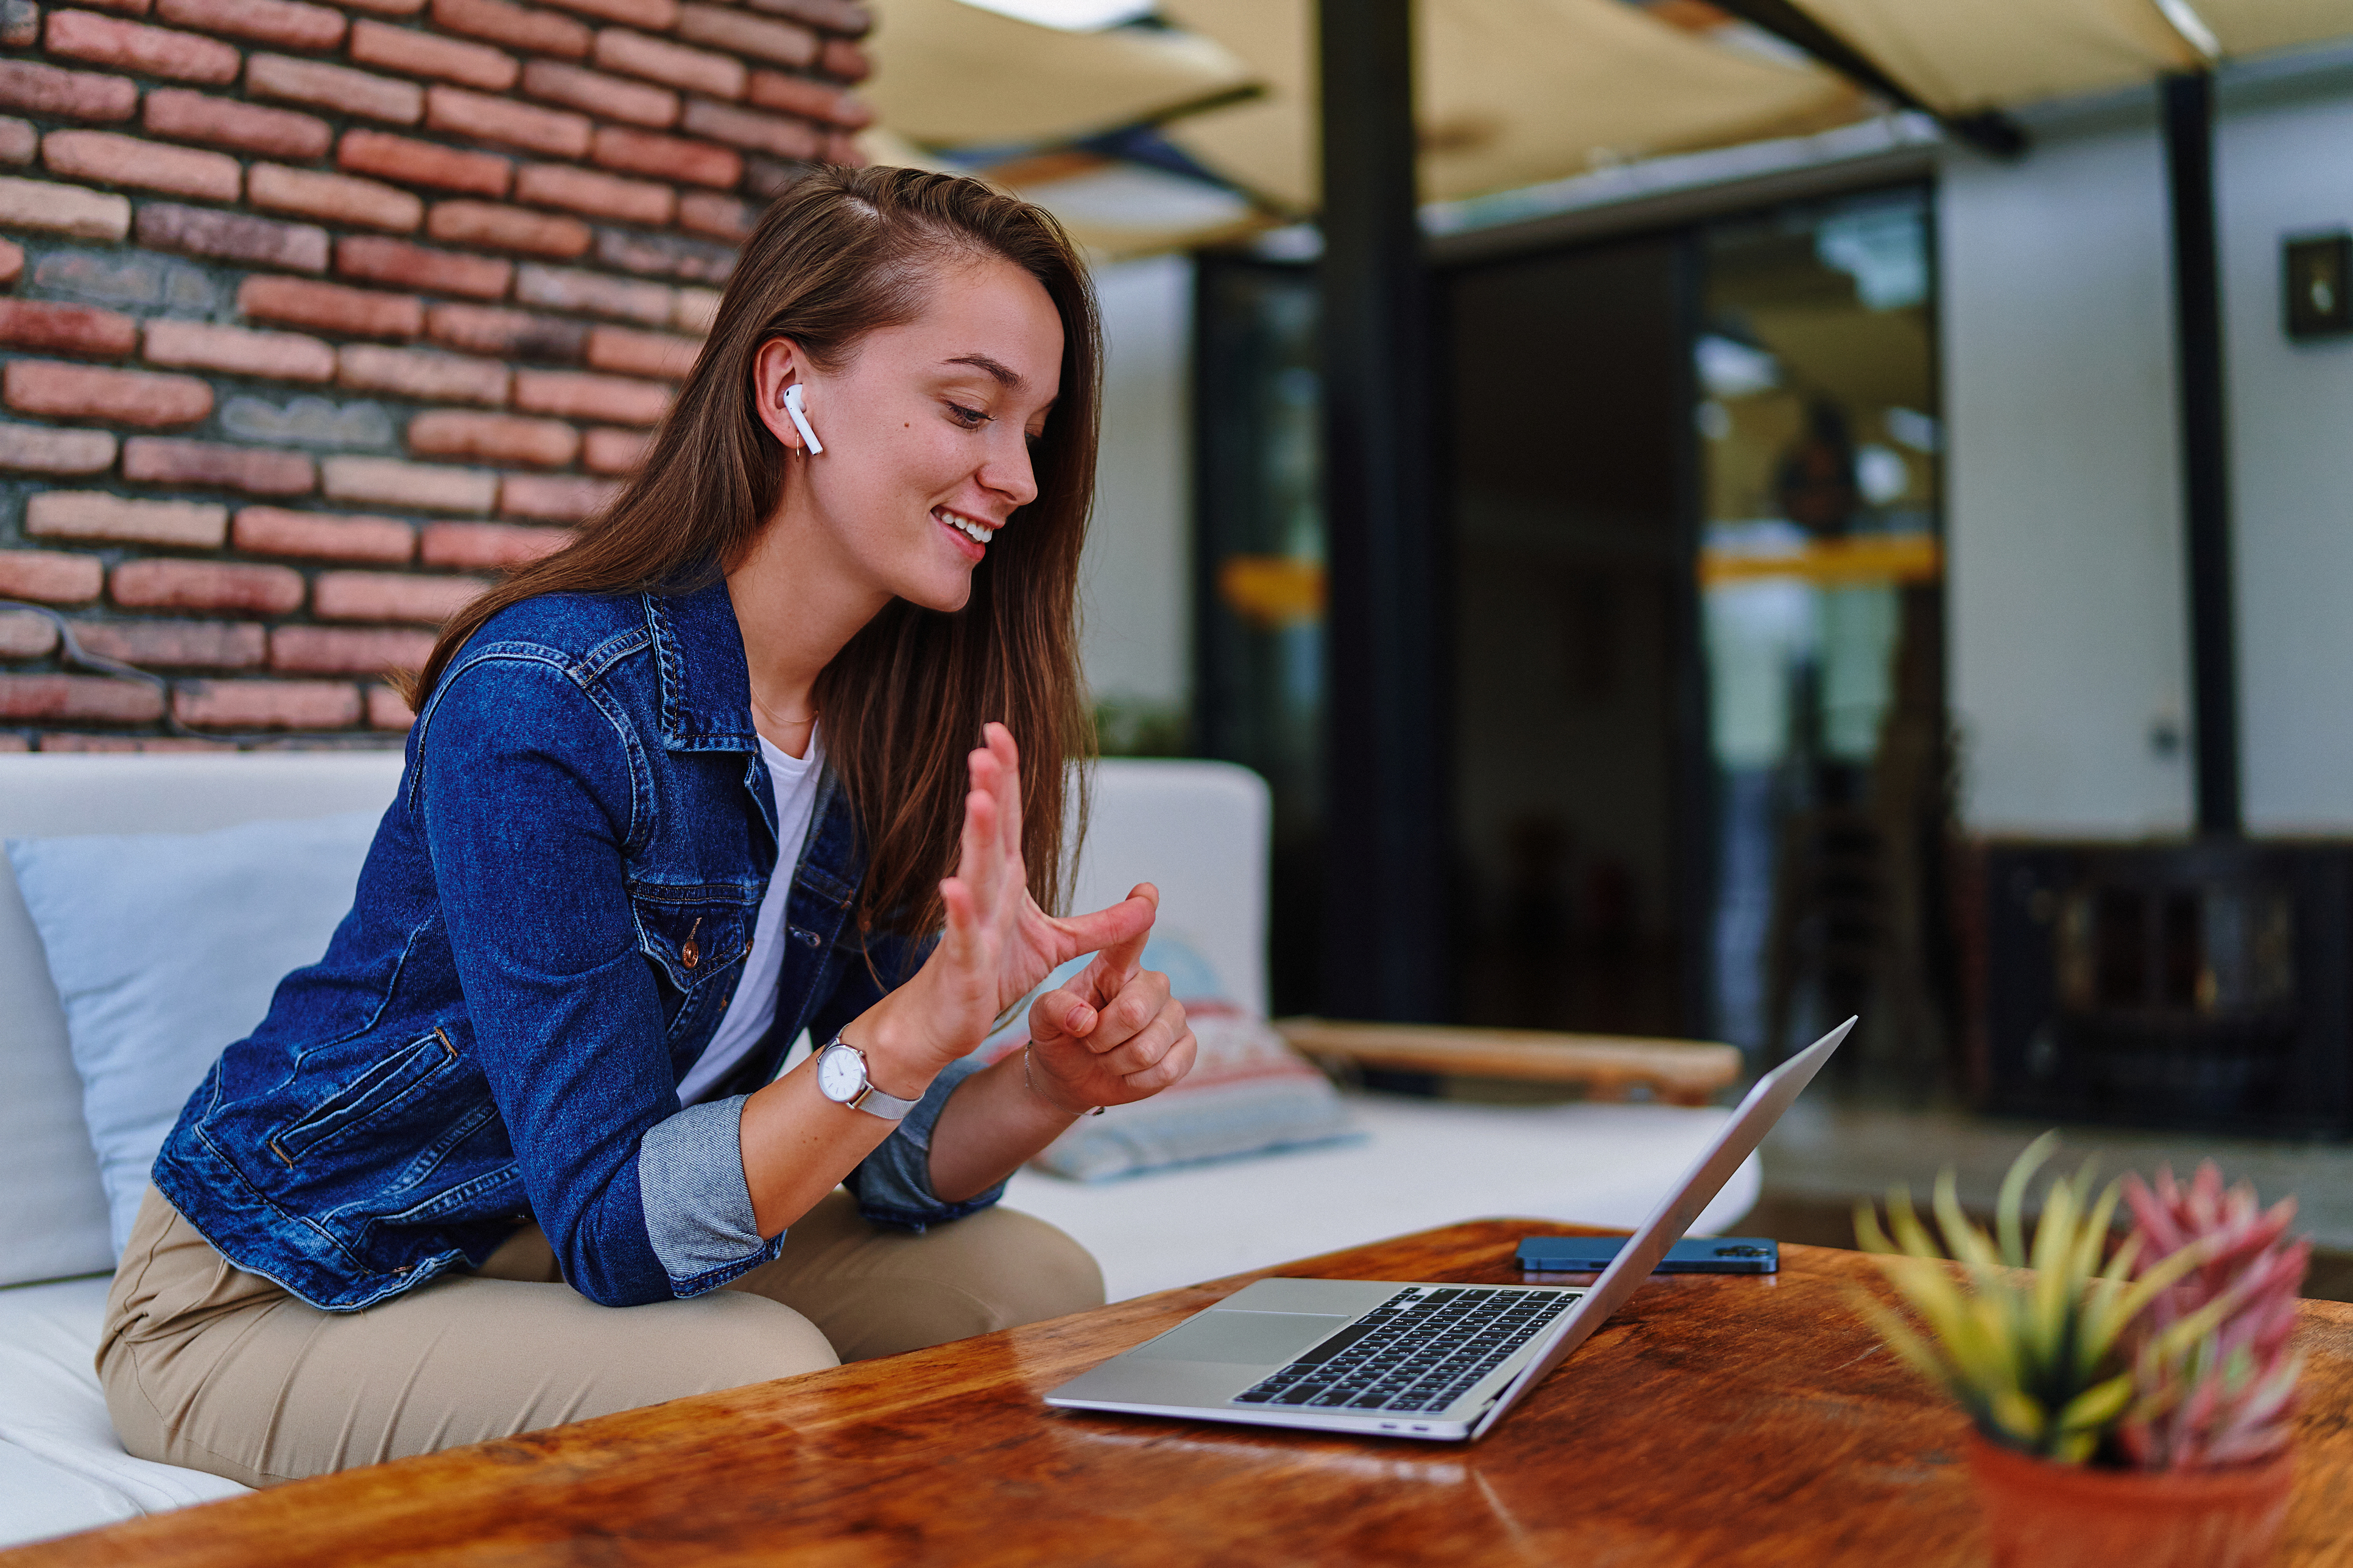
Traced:
[[1231, 1403], [1445, 1410], [1579, 1295], [1584, 1291], [1398, 1291]]

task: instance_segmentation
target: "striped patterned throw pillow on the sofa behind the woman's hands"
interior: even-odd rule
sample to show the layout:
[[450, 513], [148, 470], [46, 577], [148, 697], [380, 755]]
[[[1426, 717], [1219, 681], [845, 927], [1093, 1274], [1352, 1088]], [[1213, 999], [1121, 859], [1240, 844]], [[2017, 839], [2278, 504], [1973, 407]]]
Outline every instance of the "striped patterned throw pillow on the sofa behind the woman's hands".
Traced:
[[[1240, 1159], [1355, 1138], [1332, 1081], [1257, 1013], [1214, 994], [1214, 978], [1174, 938], [1153, 938], [1144, 966], [1169, 976], [1200, 1053], [1193, 1072], [1148, 1100], [1080, 1117], [1031, 1159], [1040, 1171], [1099, 1182], [1202, 1159]], [[1075, 971], [1078, 966], [1073, 966]], [[1056, 971], [1047, 985], [1061, 985]], [[1207, 992], [1207, 994], [1200, 994]], [[981, 1046], [1002, 1060], [1028, 1041], [1026, 1013]]]

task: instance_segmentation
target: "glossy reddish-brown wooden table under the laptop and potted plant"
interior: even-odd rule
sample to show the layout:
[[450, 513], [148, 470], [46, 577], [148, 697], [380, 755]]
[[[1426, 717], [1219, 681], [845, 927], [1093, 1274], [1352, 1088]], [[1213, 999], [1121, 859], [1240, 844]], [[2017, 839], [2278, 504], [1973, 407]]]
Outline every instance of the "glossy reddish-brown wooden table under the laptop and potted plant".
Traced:
[[[1482, 1220], [1268, 1272], [1504, 1284], [1522, 1234], [1579, 1232]], [[1245, 1274], [0, 1563], [1984, 1563], [1960, 1415], [1845, 1307], [1868, 1262], [1781, 1258], [1652, 1281], [1475, 1446], [1040, 1403]], [[2353, 1307], [2306, 1302], [2304, 1345], [2282, 1568], [2353, 1563]]]

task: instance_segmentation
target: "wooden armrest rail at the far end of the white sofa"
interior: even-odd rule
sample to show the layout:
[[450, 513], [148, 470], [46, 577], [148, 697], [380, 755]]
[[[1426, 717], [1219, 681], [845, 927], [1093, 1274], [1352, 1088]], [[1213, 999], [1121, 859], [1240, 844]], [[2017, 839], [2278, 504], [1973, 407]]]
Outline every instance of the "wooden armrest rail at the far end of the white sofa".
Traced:
[[1292, 1048], [1327, 1065], [1584, 1084], [1593, 1100], [1624, 1100], [1640, 1086], [1668, 1105], [1706, 1105], [1741, 1077], [1737, 1046], [1697, 1039], [1332, 1018], [1278, 1018], [1275, 1030]]

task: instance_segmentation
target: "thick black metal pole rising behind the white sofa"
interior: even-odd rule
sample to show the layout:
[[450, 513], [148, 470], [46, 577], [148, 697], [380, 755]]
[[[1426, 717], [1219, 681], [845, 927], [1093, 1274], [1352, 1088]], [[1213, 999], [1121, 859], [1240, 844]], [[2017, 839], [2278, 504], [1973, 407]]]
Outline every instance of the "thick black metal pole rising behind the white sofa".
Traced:
[[1412, 0], [1322, 0], [1327, 745], [1322, 1009], [1440, 1020], [1442, 555], [1414, 181]]

